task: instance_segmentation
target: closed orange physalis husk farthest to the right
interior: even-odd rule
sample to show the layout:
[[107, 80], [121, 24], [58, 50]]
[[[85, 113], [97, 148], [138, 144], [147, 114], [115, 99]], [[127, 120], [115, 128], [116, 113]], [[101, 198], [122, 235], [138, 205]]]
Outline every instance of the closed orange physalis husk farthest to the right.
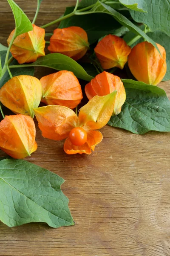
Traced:
[[128, 57], [128, 66], [133, 76], [146, 84], [157, 85], [167, 71], [164, 47], [156, 44], [158, 50], [148, 42], [136, 44]]

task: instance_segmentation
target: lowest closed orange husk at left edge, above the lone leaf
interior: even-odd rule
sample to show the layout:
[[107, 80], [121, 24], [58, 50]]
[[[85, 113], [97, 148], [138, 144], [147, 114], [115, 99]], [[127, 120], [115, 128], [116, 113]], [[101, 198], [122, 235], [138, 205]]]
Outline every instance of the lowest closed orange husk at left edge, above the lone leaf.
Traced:
[[37, 150], [35, 124], [30, 116], [6, 116], [0, 122], [0, 148], [11, 157], [22, 159]]

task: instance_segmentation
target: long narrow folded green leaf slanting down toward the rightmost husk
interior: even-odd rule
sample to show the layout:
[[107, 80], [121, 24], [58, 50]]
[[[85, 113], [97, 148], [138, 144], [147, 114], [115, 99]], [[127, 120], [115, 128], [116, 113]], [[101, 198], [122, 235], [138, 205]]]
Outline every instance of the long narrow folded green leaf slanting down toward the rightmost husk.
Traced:
[[158, 47], [156, 46], [156, 43], [149, 38], [141, 29], [139, 29], [138, 26], [133, 24], [130, 20], [128, 20], [125, 16], [123, 16], [121, 13], [116, 12], [113, 8], [110, 6], [105, 5], [104, 3], [97, 2], [96, 6], [94, 6], [91, 10], [91, 13], [93, 12], [102, 12], [102, 13], [108, 13], [112, 15], [122, 26], [127, 27], [130, 31], [135, 33], [136, 35], [142, 36], [147, 42], [150, 42], [153, 44], [154, 47], [159, 51]]

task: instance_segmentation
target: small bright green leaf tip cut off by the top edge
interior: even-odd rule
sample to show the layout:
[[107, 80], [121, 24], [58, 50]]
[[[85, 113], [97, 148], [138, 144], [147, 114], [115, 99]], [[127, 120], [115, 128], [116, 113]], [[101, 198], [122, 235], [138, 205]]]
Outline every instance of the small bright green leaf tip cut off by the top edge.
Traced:
[[137, 12], [147, 12], [145, 0], [119, 0], [124, 6]]

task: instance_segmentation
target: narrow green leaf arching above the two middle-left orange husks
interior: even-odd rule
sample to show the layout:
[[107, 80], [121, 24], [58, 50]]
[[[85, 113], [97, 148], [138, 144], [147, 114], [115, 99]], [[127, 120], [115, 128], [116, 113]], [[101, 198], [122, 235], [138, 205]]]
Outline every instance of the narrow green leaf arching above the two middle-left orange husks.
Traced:
[[50, 67], [55, 70], [68, 70], [72, 71], [75, 76], [80, 79], [91, 81], [93, 79], [92, 76], [89, 76], [88, 73], [72, 58], [69, 58], [66, 55], [61, 53], [50, 53], [45, 55], [44, 57], [40, 57], [37, 61], [26, 64], [26, 65], [18, 65], [18, 67]]

